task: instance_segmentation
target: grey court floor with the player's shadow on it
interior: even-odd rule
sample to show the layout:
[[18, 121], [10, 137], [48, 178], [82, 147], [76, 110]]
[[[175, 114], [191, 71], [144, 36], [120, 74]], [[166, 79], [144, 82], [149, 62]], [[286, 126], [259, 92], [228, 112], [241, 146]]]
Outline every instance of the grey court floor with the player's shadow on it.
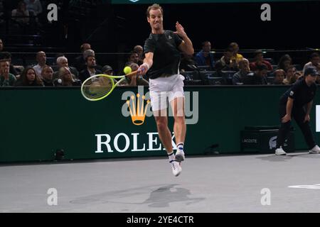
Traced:
[[[0, 165], [0, 212], [320, 212], [320, 155]], [[55, 205], [56, 204], [56, 205]]]

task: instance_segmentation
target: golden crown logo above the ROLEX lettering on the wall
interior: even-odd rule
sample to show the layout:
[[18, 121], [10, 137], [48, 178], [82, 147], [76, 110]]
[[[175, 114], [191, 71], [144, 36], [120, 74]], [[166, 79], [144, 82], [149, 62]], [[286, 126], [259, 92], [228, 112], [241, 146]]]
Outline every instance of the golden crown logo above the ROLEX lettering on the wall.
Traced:
[[[130, 116], [132, 119], [132, 123], [134, 123], [136, 126], [140, 126], [144, 123], [144, 118], [146, 117], [146, 108], [149, 105], [150, 100], [146, 100], [146, 106], [144, 106], [144, 100], [146, 99], [146, 96], [142, 96], [142, 104], [140, 104], [140, 94], [137, 94], [137, 99], [134, 103], [135, 96], [132, 95], [132, 105], [130, 105], [130, 100], [127, 100], [127, 104], [129, 106]], [[137, 108], [136, 108], [137, 104]]]

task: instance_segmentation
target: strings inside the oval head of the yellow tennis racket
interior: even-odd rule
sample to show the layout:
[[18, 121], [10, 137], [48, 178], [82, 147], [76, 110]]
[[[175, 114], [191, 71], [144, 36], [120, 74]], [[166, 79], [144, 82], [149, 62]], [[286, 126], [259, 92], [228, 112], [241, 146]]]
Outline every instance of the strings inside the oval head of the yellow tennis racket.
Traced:
[[108, 94], [114, 85], [110, 77], [94, 77], [83, 84], [83, 93], [89, 99], [98, 99]]

